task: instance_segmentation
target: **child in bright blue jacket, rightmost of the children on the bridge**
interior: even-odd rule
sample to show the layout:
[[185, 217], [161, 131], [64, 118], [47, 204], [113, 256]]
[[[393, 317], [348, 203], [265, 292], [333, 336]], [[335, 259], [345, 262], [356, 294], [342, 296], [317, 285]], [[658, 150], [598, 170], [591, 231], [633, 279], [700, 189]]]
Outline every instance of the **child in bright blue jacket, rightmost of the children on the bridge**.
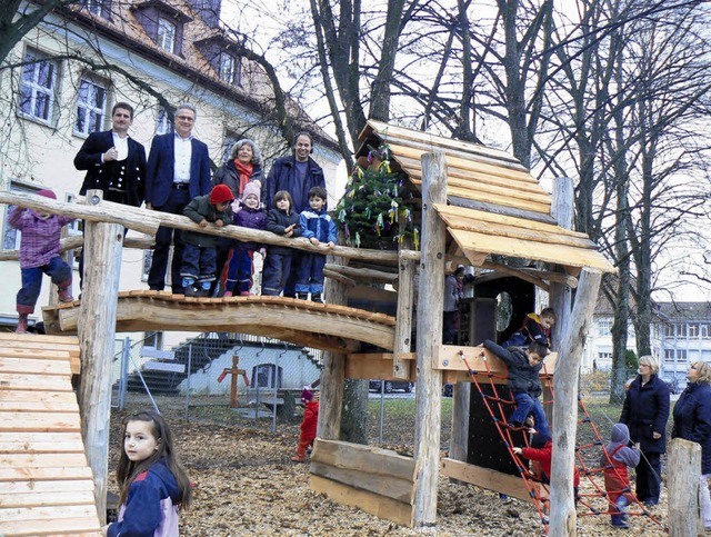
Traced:
[[[338, 240], [336, 223], [326, 212], [327, 193], [322, 187], [313, 187], [309, 190], [309, 206], [311, 210], [304, 210], [299, 217], [301, 236], [311, 241], [313, 246], [326, 242], [328, 248], [333, 248]], [[297, 269], [297, 298], [307, 300], [311, 291], [311, 301], [323, 302], [323, 267], [326, 256], [323, 253], [303, 252], [301, 263]]]

